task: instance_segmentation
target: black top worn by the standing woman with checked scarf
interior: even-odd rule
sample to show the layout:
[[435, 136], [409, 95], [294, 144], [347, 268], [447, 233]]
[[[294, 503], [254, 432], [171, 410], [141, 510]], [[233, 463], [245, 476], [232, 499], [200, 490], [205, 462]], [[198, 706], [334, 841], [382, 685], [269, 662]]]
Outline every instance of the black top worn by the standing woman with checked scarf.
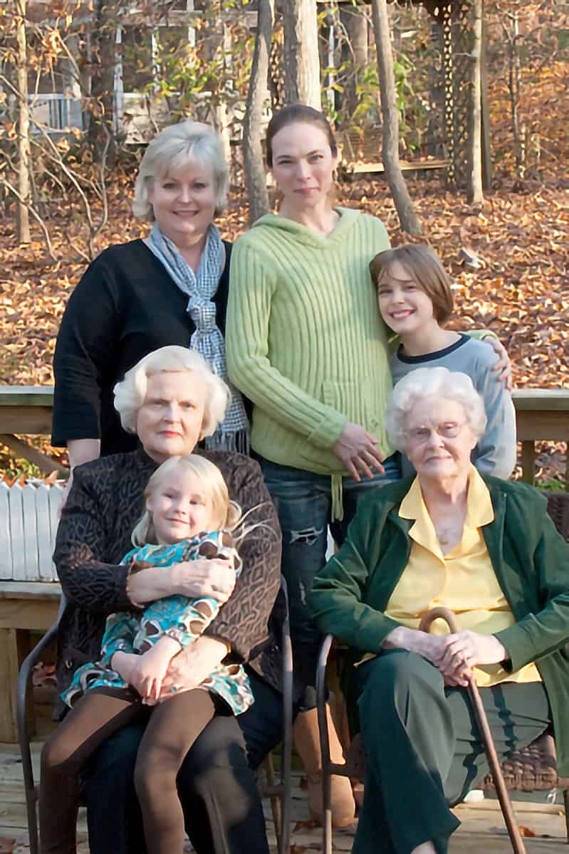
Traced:
[[[231, 243], [214, 295], [225, 335]], [[188, 298], [142, 240], [105, 249], [69, 297], [54, 356], [56, 390], [51, 443], [101, 439], [101, 456], [137, 447], [122, 430], [113, 388], [146, 354], [167, 344], [187, 347], [196, 329]]]

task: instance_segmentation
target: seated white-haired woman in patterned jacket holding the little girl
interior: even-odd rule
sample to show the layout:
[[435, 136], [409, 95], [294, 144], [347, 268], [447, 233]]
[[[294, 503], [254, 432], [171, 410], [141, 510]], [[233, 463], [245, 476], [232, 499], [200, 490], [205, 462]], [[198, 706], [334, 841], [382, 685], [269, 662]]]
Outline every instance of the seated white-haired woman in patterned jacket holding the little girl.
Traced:
[[[161, 698], [197, 687], [223, 662], [246, 663], [255, 701], [238, 717], [219, 714], [208, 723], [179, 771], [179, 798], [199, 854], [268, 854], [254, 769], [282, 735], [281, 657], [275, 638], [283, 603], [277, 599], [279, 523], [259, 465], [240, 453], [197, 451], [217, 465], [230, 499], [247, 514], [249, 533], [239, 547], [237, 582], [223, 559], [186, 560], [167, 568], [139, 564], [136, 572], [120, 564], [144, 509], [150, 476], [167, 459], [194, 452], [197, 442], [214, 435], [227, 399], [226, 383], [202, 356], [179, 346], [148, 354], [115, 387], [122, 425], [138, 436], [141, 447], [75, 470], [54, 555], [67, 597], [58, 634], [57, 682], [65, 691], [82, 664], [97, 661], [111, 613], [136, 613], [173, 594], [220, 601], [223, 607], [208, 629], [172, 659]], [[137, 721], [111, 736], [84, 771], [91, 854], [146, 850], [134, 770], [147, 722], [143, 706]]]

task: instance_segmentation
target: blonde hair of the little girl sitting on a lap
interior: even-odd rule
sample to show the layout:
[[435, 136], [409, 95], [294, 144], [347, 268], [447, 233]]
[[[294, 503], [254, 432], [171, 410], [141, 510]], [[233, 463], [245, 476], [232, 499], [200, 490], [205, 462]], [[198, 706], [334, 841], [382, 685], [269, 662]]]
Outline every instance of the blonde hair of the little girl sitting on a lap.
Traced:
[[[146, 484], [144, 500], [147, 500], [153, 490], [167, 479], [174, 469], [179, 467], [184, 467], [188, 471], [191, 471], [193, 475], [199, 478], [200, 483], [202, 483], [204, 492], [212, 504], [213, 518], [211, 530], [233, 530], [241, 519], [241, 507], [235, 501], [230, 500], [227, 484], [217, 465], [214, 465], [208, 459], [205, 459], [205, 457], [200, 457], [197, 453], [187, 453], [183, 457], [170, 457], [170, 459], [162, 463], [154, 474], [150, 476], [150, 480]], [[152, 515], [148, 510], [145, 509], [143, 515], [138, 520], [132, 531], [131, 540], [132, 545], [135, 547], [144, 546], [147, 542], [156, 542]]]

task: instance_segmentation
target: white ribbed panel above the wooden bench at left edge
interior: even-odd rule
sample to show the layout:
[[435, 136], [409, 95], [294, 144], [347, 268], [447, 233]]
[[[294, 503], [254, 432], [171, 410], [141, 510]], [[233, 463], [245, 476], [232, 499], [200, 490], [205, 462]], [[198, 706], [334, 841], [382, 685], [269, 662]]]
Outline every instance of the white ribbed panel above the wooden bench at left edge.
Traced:
[[51, 560], [63, 488], [0, 483], [0, 579], [56, 581]]

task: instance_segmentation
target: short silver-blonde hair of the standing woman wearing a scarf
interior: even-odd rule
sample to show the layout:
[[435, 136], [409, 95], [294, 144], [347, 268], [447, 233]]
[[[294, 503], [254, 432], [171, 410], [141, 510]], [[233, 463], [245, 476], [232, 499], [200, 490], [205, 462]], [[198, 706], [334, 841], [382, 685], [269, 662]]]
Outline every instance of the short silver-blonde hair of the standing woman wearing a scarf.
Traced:
[[137, 219], [154, 220], [148, 199], [150, 184], [156, 178], [179, 172], [187, 167], [211, 167], [214, 173], [215, 213], [221, 213], [227, 202], [229, 167], [221, 148], [220, 137], [213, 127], [186, 119], [165, 127], [149, 143], [138, 167], [132, 213]]

